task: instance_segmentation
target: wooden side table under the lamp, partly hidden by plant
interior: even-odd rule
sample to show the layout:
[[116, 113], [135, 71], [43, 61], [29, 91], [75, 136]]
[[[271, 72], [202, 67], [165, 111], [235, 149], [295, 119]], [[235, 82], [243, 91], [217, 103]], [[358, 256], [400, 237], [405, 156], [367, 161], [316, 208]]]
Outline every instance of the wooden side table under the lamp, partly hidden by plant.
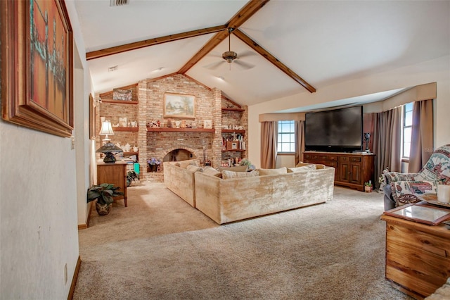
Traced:
[[127, 207], [127, 163], [122, 161], [97, 163], [97, 185], [101, 183], [112, 183], [120, 187], [119, 192], [123, 192], [124, 195], [116, 196], [114, 199], [124, 199], [124, 205]]

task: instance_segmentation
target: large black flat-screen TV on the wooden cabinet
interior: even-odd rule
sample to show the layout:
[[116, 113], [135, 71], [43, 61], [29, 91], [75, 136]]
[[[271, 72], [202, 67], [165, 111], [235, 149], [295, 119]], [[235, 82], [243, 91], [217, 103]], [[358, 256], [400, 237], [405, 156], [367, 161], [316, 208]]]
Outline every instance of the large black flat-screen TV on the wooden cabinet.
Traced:
[[306, 151], [361, 151], [362, 143], [362, 106], [306, 113], [304, 125]]

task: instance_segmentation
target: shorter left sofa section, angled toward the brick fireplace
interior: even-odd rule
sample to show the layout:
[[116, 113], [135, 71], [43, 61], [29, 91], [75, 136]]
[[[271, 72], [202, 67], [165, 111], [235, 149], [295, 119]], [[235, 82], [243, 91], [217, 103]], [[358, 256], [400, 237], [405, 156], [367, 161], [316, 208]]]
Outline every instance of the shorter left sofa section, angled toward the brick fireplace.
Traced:
[[[167, 189], [184, 199], [188, 204], [195, 207], [195, 184], [194, 173], [199, 167], [198, 160], [166, 161], [162, 163], [164, 169], [164, 183]], [[192, 165], [192, 167], [189, 167]]]

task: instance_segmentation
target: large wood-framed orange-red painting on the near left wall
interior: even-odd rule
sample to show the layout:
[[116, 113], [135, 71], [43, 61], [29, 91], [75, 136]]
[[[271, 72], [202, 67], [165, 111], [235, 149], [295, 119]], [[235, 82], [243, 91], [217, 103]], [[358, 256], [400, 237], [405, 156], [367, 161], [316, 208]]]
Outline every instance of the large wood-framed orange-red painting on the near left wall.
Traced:
[[73, 37], [65, 2], [0, 1], [0, 20], [2, 118], [70, 137]]

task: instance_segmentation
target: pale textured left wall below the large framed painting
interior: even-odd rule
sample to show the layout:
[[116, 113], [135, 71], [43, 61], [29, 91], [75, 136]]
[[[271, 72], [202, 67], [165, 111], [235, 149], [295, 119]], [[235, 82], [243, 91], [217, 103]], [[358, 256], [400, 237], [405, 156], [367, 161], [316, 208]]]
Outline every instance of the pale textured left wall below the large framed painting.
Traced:
[[65, 299], [78, 258], [71, 139], [1, 120], [0, 157], [0, 299]]

